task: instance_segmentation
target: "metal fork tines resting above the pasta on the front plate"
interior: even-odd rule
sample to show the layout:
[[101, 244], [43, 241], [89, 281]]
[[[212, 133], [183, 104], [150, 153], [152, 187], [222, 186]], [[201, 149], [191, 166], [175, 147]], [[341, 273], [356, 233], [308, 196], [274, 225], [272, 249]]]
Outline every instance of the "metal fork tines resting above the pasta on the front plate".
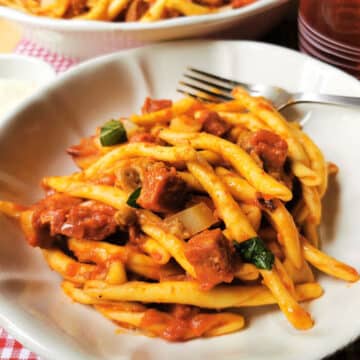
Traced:
[[235, 81], [188, 67], [176, 91], [206, 102], [233, 100], [231, 90], [239, 85]]

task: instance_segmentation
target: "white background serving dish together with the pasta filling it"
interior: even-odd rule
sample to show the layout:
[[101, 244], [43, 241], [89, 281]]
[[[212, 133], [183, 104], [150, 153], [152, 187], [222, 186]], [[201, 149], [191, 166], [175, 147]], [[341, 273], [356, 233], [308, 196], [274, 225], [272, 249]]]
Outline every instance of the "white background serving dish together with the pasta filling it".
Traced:
[[[286, 13], [288, 0], [240, 0], [236, 5], [240, 7], [235, 9], [232, 9], [229, 1], [222, 0], [205, 0], [197, 4], [190, 0], [170, 0], [174, 3], [172, 7], [168, 7], [170, 5], [167, 5], [167, 2], [93, 2], [95, 5], [105, 4], [104, 14], [101, 8], [96, 8], [92, 12], [91, 1], [59, 0], [54, 2], [54, 6], [48, 6], [48, 10], [45, 11], [41, 10], [39, 5], [35, 6], [39, 4], [37, 1], [0, 0], [0, 16], [19, 23], [24, 28], [24, 36], [39, 45], [65, 56], [84, 59], [163, 40], [219, 34], [227, 29], [232, 29], [236, 38], [253, 39], [280, 21]], [[151, 12], [146, 12], [149, 8], [146, 4], [149, 3], [155, 8]], [[32, 4], [33, 7], [30, 9], [33, 9], [33, 13], [25, 11], [21, 4]], [[68, 12], [79, 13], [81, 16], [74, 16], [72, 19], [62, 18], [64, 4], [74, 4], [74, 9], [68, 9]], [[209, 4], [215, 6], [209, 7]], [[219, 7], [219, 4], [227, 5]], [[35, 16], [34, 13], [43, 16]], [[165, 16], [168, 18], [164, 20]], [[139, 21], [141, 17], [143, 20]], [[130, 22], [124, 21], [126, 18]]]

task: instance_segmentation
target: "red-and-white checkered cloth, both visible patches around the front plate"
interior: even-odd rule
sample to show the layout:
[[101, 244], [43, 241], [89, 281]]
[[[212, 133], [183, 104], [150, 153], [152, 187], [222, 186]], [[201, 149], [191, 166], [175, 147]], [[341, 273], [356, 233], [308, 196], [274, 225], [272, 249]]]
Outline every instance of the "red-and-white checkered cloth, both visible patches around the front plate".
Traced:
[[[50, 64], [57, 73], [69, 69], [78, 62], [76, 59], [67, 58], [44, 49], [27, 39], [22, 39], [19, 42], [15, 53], [41, 59]], [[0, 327], [0, 360], [40, 360], [40, 358], [30, 350], [25, 349]]]

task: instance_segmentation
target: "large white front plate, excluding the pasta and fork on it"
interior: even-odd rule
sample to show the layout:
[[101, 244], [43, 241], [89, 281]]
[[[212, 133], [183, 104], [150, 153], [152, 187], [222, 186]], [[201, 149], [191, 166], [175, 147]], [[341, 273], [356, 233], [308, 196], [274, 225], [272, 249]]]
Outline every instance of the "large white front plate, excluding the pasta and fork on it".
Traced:
[[[256, 42], [166, 43], [99, 58], [57, 79], [0, 127], [0, 198], [38, 199], [42, 176], [75, 169], [67, 146], [104, 120], [138, 111], [147, 95], [178, 97], [176, 83], [187, 65], [294, 91], [360, 95], [360, 83], [345, 73]], [[306, 130], [341, 169], [325, 199], [323, 247], [358, 268], [359, 110], [302, 106], [297, 111], [310, 115]], [[316, 321], [310, 331], [294, 330], [276, 306], [269, 306], [246, 310], [246, 329], [218, 338], [171, 344], [117, 334], [108, 320], [62, 294], [58, 275], [12, 221], [0, 218], [0, 228], [0, 324], [48, 359], [310, 360], [360, 334], [359, 283], [325, 276], [320, 277], [325, 295], [306, 305]]]

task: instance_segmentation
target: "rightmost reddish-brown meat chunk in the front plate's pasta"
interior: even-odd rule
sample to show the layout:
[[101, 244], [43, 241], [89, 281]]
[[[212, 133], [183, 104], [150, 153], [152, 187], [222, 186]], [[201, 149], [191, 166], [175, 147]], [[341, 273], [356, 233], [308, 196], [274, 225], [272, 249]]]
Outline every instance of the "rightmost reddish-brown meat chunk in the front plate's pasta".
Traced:
[[268, 171], [280, 170], [284, 166], [288, 146], [279, 135], [267, 130], [256, 131], [250, 137], [250, 146]]

